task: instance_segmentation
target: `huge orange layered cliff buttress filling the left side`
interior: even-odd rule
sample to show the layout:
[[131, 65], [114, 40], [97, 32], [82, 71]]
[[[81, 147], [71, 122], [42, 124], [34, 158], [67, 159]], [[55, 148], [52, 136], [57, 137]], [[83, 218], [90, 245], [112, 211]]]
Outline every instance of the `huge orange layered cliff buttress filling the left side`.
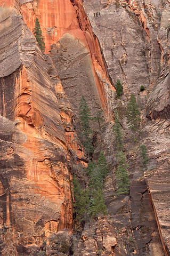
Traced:
[[[14, 6], [7, 2], [1, 12], [1, 224], [21, 233], [20, 246], [39, 246], [53, 231], [72, 228], [69, 151], [77, 137], [67, 130], [71, 108], [56, 98], [64, 94], [61, 82], [53, 84]], [[80, 142], [72, 155], [86, 166]]]

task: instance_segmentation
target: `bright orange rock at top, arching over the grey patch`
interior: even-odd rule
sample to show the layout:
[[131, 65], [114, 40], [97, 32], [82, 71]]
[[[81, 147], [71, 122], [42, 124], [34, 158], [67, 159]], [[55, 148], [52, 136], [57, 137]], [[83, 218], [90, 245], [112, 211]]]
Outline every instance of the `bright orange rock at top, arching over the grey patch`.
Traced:
[[[99, 93], [98, 104], [102, 104], [102, 108], [107, 113], [106, 91], [103, 87], [104, 83], [108, 83], [109, 87], [111, 84], [98, 38], [91, 30], [82, 4], [78, 1], [76, 4], [72, 4], [70, 0], [41, 0], [28, 3], [21, 1], [21, 9], [23, 19], [31, 31], [33, 31], [35, 19], [38, 17], [44, 36], [45, 53], [51, 50], [53, 44], [59, 47], [60, 39], [66, 34], [73, 36], [74, 40], [78, 40], [85, 47], [92, 59], [90, 68], [94, 79], [93, 86]], [[111, 88], [114, 90], [112, 86]]]

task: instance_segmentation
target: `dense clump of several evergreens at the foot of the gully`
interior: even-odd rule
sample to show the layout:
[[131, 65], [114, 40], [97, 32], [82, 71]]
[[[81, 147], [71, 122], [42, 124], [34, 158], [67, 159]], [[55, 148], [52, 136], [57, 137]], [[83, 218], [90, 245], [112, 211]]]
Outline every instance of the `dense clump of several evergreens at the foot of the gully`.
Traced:
[[73, 176], [75, 213], [78, 221], [87, 221], [98, 217], [99, 214], [107, 214], [102, 187], [109, 169], [103, 151], [100, 152], [98, 165], [90, 161], [86, 170], [90, 180], [88, 188], [84, 190], [81, 189], [75, 175]]

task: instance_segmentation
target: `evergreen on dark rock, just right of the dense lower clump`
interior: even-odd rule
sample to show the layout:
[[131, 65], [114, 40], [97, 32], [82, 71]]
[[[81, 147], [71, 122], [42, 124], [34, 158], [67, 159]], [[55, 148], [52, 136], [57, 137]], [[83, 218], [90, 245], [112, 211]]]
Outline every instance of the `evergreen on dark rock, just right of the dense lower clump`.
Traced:
[[126, 156], [122, 150], [119, 150], [117, 153], [118, 157], [118, 169], [116, 172], [116, 180], [117, 180], [117, 191], [116, 195], [127, 194], [129, 188], [129, 178], [127, 172], [127, 163], [126, 163]]

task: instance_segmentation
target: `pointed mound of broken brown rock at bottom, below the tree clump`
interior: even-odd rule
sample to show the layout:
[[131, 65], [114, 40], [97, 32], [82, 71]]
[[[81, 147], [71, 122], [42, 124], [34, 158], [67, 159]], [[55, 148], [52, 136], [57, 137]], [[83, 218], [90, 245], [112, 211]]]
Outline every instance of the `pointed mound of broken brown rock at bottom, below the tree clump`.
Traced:
[[106, 217], [101, 216], [96, 223], [90, 222], [89, 225], [86, 225], [74, 252], [74, 256], [80, 255], [124, 256], [127, 254], [120, 244], [117, 245], [117, 234], [114, 227]]

